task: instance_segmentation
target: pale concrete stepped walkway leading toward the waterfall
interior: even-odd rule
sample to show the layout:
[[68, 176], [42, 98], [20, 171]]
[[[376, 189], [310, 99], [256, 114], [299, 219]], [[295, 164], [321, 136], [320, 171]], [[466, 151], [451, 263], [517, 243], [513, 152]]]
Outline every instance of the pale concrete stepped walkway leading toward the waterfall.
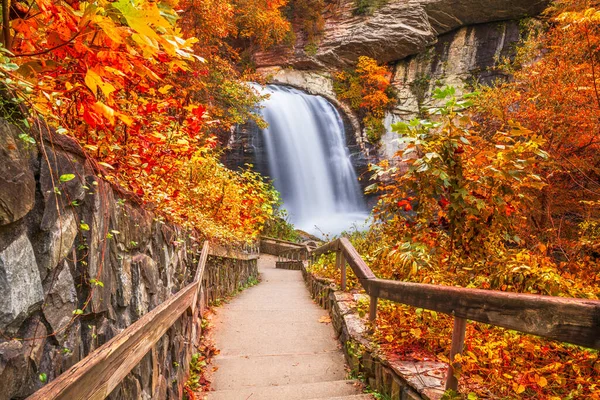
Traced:
[[275, 269], [261, 255], [261, 283], [217, 310], [210, 400], [371, 399], [346, 380], [344, 356], [327, 312], [300, 271]]

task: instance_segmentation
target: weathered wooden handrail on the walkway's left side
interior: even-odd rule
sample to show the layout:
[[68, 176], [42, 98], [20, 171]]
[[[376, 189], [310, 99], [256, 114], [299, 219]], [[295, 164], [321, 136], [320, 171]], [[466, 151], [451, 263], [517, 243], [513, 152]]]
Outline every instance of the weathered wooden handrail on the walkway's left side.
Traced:
[[29, 396], [28, 400], [106, 398], [187, 309], [195, 310], [209, 250], [208, 242], [204, 242], [192, 283]]

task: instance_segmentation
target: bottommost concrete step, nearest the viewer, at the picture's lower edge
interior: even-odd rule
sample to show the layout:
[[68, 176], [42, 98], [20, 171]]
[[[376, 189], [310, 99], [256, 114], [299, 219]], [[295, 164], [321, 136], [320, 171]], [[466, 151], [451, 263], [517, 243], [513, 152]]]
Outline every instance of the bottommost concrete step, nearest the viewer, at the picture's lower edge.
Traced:
[[283, 386], [247, 387], [235, 390], [219, 390], [204, 394], [206, 400], [305, 400], [305, 399], [351, 399], [362, 400], [360, 383], [354, 380], [302, 383]]

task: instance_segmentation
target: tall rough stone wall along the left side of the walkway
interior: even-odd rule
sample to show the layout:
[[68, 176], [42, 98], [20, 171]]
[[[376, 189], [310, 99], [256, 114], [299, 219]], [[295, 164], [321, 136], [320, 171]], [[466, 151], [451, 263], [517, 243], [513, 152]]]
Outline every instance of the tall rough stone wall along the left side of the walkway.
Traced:
[[[0, 121], [0, 400], [27, 397], [182, 289], [200, 251], [98, 178], [69, 138], [22, 133]], [[256, 276], [252, 257], [211, 256], [203, 302]], [[200, 335], [186, 313], [110, 398], [181, 399]]]

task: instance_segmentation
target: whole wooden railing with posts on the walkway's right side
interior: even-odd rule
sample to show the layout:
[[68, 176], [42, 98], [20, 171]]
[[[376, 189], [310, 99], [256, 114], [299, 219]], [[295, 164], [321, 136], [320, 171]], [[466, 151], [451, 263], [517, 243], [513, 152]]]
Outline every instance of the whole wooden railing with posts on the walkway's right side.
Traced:
[[[311, 260], [336, 253], [336, 265], [346, 289], [346, 263], [370, 296], [369, 320], [377, 316], [377, 300], [387, 299], [454, 317], [450, 360], [462, 353], [467, 320], [513, 329], [548, 339], [600, 350], [600, 301], [494, 290], [466, 289], [377, 279], [346, 238], [327, 243], [310, 253]], [[446, 389], [458, 381], [448, 367]]]

